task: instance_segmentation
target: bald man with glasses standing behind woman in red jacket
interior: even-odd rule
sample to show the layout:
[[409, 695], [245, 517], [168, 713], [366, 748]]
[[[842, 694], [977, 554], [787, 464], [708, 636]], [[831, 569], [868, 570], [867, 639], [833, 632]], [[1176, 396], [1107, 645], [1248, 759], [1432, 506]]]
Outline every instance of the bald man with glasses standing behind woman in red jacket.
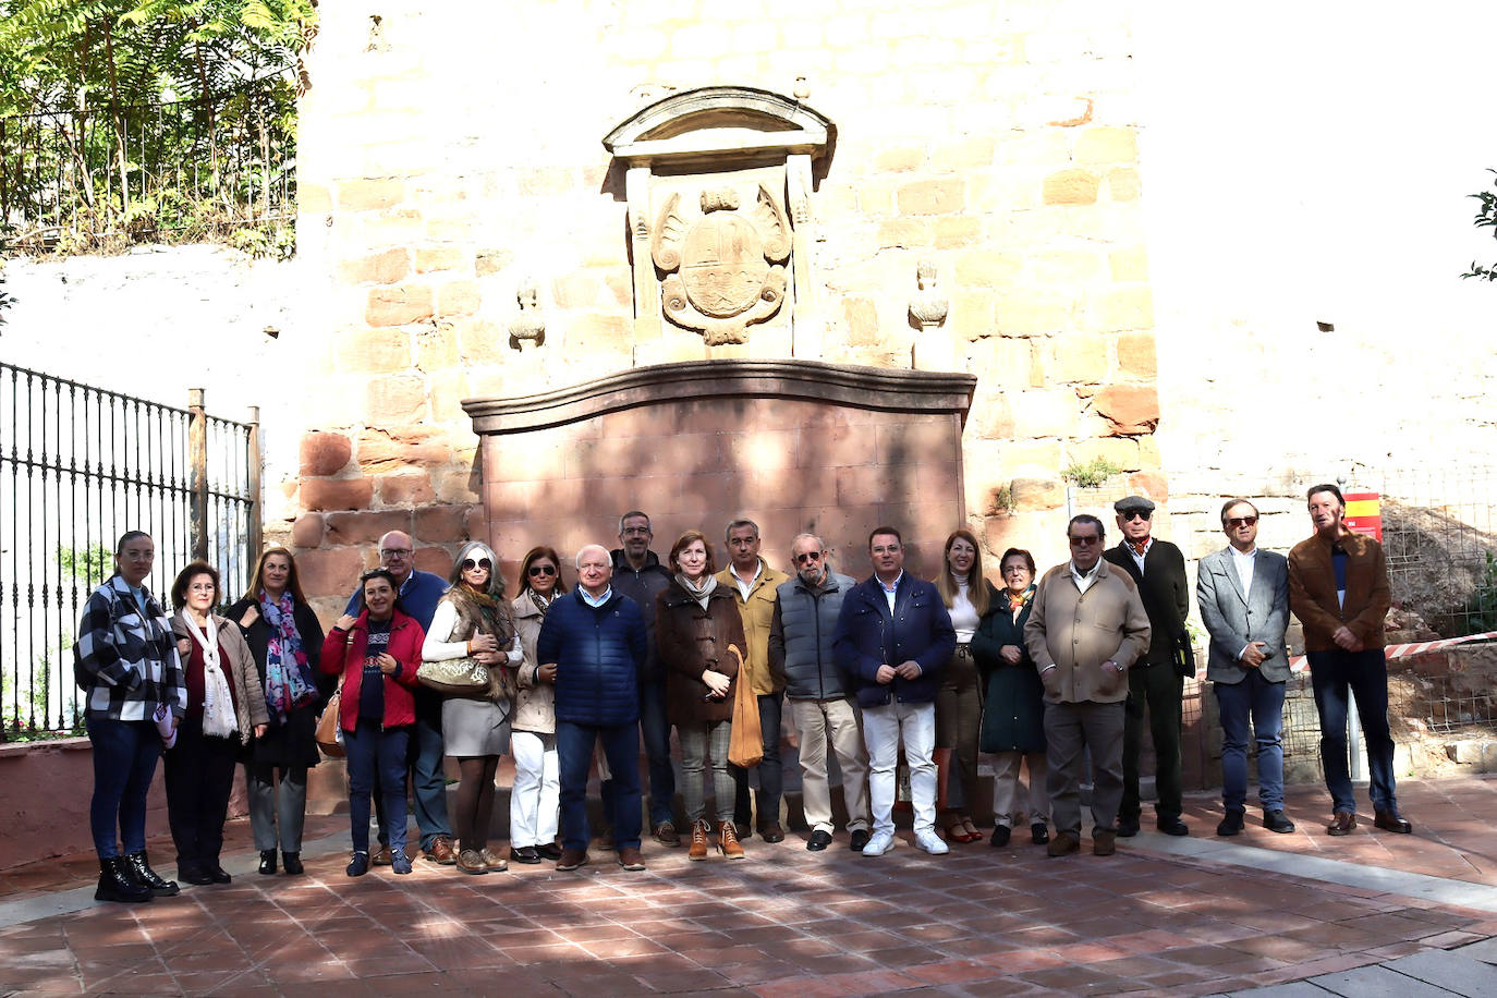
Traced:
[[[421, 630], [431, 627], [431, 618], [437, 612], [437, 603], [448, 591], [448, 581], [431, 572], [416, 567], [415, 543], [410, 534], [392, 530], [379, 539], [379, 563], [389, 569], [398, 587], [397, 597], [407, 616], [421, 624]], [[349, 597], [344, 613], [358, 616], [364, 609], [364, 590], [359, 588]], [[448, 823], [448, 780], [442, 769], [442, 694], [427, 687], [416, 687], [416, 736], [410, 742], [410, 784], [416, 798], [416, 826], [421, 829], [421, 850], [428, 862], [451, 866], [458, 862], [452, 850], [452, 826]], [[379, 795], [374, 798], [376, 809], [380, 809]], [[385, 826], [385, 815], [380, 814], [380, 827]], [[389, 865], [389, 842], [380, 833], [379, 850], [374, 853], [374, 865]]]

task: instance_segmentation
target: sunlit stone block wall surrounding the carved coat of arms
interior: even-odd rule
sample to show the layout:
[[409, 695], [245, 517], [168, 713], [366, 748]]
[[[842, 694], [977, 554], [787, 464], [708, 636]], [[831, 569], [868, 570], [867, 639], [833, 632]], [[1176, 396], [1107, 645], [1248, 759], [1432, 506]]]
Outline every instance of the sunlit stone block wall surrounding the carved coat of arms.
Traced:
[[[284, 480], [317, 594], [344, 593], [392, 525], [413, 530], [427, 567], [482, 534], [461, 399], [641, 362], [626, 192], [600, 138], [708, 84], [793, 93], [835, 123], [810, 195], [826, 326], [813, 359], [912, 367], [916, 262], [936, 265], [952, 367], [978, 376], [963, 498], [991, 548], [1043, 536], [1057, 540], [1040, 560], [1058, 558], [1058, 473], [1091, 456], [1163, 498], [1121, 12], [401, 0], [322, 16], [298, 239], [325, 281], [308, 299], [325, 335], [301, 467]], [[525, 280], [546, 332], [521, 355], [509, 325]], [[1018, 495], [1012, 515], [1000, 491]]]

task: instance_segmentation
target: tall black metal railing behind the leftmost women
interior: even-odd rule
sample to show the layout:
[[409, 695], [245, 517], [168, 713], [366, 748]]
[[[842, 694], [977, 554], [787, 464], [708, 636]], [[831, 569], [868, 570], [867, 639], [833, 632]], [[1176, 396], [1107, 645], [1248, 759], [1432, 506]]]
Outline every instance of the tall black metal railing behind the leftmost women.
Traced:
[[259, 410], [208, 416], [0, 362], [0, 738], [78, 732], [70, 648], [115, 540], [156, 540], [147, 588], [169, 603], [193, 558], [228, 601], [260, 548]]

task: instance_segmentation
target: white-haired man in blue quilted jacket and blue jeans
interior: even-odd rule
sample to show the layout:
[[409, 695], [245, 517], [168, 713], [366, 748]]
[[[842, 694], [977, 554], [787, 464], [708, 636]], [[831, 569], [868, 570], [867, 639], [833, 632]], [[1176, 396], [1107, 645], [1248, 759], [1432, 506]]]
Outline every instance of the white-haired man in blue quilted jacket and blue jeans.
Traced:
[[546, 610], [536, 640], [540, 667], [555, 666], [557, 756], [561, 778], [561, 859], [587, 863], [587, 769], [602, 741], [614, 771], [618, 865], [644, 869], [639, 854], [639, 670], [650, 642], [638, 603], [614, 591], [608, 548], [576, 552], [578, 588]]

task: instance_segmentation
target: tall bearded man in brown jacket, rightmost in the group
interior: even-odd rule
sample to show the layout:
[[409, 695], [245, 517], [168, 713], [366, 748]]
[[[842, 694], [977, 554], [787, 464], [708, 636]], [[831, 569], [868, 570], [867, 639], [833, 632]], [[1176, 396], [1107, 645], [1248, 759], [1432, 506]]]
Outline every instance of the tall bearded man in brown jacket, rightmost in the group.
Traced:
[[1394, 789], [1394, 739], [1388, 730], [1388, 661], [1383, 657], [1383, 616], [1392, 597], [1383, 548], [1347, 528], [1346, 501], [1334, 485], [1316, 485], [1305, 495], [1314, 536], [1289, 552], [1289, 609], [1304, 624], [1305, 657], [1314, 705], [1320, 714], [1320, 766], [1334, 815], [1326, 832], [1349, 835], [1356, 827], [1356, 798], [1347, 771], [1347, 691], [1367, 742], [1373, 824], [1407, 833]]

